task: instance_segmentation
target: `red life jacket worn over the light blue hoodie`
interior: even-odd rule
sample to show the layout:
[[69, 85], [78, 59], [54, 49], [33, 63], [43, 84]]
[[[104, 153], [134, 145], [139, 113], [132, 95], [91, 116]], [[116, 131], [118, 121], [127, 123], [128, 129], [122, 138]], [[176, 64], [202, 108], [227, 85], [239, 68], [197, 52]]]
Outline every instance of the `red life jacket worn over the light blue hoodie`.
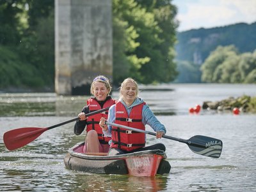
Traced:
[[[142, 108], [146, 103], [141, 103], [132, 107], [130, 115], [127, 114], [124, 105], [118, 101], [116, 103], [116, 124], [131, 126], [132, 128], [145, 130], [142, 123]], [[112, 127], [111, 131], [112, 143], [111, 148], [119, 148], [125, 151], [132, 151], [145, 146], [145, 133], [127, 130], [124, 128]]]

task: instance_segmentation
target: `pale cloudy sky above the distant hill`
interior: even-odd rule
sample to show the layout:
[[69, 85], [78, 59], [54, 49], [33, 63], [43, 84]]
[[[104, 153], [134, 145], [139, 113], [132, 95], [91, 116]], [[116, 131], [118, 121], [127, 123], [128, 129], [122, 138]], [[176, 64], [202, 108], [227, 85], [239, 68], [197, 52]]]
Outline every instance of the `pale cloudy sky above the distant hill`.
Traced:
[[178, 31], [256, 22], [256, 0], [173, 0]]

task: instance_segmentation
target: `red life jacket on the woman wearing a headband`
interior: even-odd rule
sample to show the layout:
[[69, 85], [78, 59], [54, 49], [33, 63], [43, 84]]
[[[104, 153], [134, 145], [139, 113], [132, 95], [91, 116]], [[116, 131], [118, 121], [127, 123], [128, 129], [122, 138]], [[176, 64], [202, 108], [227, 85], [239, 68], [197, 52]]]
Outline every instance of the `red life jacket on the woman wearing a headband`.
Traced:
[[[112, 99], [107, 100], [104, 103], [103, 108], [110, 107], [111, 105], [114, 105], [114, 104], [115, 104], [115, 100], [112, 100]], [[89, 106], [89, 112], [94, 112], [95, 110], [102, 109], [100, 107], [100, 104], [93, 98], [89, 98], [87, 100], [87, 105]], [[94, 129], [98, 133], [98, 138], [99, 138], [100, 144], [108, 144], [109, 140], [111, 140], [111, 137], [104, 137], [104, 135], [102, 133], [102, 128], [100, 128], [100, 126], [99, 126], [101, 117], [105, 117], [106, 119], [108, 119], [108, 110], [105, 112], [101, 112], [99, 114], [89, 116], [86, 121], [86, 124], [87, 124], [86, 131], [88, 132], [88, 131]]]

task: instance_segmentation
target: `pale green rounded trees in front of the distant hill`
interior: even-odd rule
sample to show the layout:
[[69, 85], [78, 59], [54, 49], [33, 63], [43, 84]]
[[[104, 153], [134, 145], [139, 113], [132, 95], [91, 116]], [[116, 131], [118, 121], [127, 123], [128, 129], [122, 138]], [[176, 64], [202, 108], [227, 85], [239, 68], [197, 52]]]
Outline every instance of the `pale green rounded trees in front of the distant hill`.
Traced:
[[204, 82], [256, 83], [256, 50], [238, 54], [236, 47], [218, 47], [201, 67]]

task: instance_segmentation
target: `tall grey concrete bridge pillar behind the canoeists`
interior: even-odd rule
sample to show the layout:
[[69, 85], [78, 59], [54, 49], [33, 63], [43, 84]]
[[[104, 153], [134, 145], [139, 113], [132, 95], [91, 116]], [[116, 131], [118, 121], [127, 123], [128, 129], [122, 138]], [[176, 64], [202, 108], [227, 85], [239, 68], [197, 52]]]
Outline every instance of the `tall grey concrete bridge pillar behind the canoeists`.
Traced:
[[97, 75], [112, 78], [111, 0], [55, 0], [55, 91], [90, 94]]

